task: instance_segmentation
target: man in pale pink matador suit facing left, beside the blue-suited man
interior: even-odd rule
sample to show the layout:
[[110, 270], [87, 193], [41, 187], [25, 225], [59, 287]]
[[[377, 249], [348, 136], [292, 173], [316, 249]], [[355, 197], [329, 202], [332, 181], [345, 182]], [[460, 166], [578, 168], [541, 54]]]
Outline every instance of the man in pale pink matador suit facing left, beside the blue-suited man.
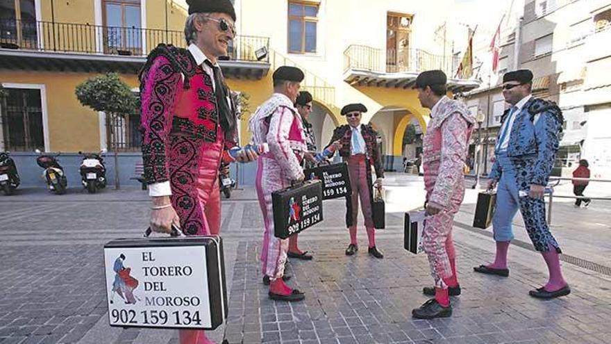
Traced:
[[462, 103], [446, 97], [446, 82], [444, 72], [429, 70], [417, 77], [414, 86], [421, 105], [430, 108], [422, 152], [426, 188], [422, 245], [435, 280], [435, 286], [423, 290], [434, 298], [412, 311], [420, 319], [451, 316], [449, 295], [460, 295], [452, 224], [464, 197], [462, 166], [475, 119]]

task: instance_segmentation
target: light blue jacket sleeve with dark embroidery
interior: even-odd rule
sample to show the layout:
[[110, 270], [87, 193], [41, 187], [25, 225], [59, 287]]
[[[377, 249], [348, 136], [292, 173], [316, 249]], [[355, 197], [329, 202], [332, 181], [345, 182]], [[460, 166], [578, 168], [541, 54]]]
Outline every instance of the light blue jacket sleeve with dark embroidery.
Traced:
[[535, 142], [537, 144], [537, 163], [533, 170], [532, 184], [545, 186], [553, 167], [554, 158], [560, 142], [558, 133], [560, 123], [553, 113], [544, 111], [535, 120]]

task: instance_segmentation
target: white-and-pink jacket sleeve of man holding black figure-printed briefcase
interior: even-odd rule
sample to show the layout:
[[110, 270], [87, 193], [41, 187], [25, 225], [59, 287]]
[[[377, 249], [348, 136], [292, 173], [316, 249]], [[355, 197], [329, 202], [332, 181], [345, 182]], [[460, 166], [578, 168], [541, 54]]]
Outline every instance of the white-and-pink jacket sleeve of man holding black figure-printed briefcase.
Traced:
[[300, 179], [303, 174], [299, 160], [297, 160], [289, 142], [289, 132], [293, 124], [294, 115], [291, 110], [279, 106], [271, 115], [269, 131], [267, 131], [267, 144], [269, 152], [281, 166], [283, 172], [290, 180]]

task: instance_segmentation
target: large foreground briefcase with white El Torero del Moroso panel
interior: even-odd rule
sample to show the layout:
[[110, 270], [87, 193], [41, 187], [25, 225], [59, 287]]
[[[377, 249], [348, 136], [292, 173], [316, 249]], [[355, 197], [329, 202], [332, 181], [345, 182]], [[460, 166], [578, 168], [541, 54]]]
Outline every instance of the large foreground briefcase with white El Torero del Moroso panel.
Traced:
[[216, 329], [227, 318], [219, 236], [112, 240], [104, 265], [110, 326]]

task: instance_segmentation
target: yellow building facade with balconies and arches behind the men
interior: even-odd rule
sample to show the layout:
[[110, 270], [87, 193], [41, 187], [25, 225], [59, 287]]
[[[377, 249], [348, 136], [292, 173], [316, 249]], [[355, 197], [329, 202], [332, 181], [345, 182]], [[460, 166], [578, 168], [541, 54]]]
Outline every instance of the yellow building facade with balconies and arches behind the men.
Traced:
[[[87, 78], [117, 72], [137, 92], [137, 71], [156, 44], [185, 47], [184, 0], [13, 0], [2, 7], [0, 150], [95, 151], [108, 146], [103, 113], [79, 104], [74, 89]], [[5, 1], [6, 2], [6, 1]], [[305, 72], [314, 95], [310, 118], [317, 145], [345, 123], [340, 108], [362, 103], [380, 132], [383, 154], [401, 161], [417, 154], [403, 145], [409, 124], [426, 131], [415, 77], [426, 69], [457, 67], [451, 42], [440, 42], [452, 1], [235, 0], [237, 37], [221, 67], [232, 90], [248, 96], [248, 118], [271, 95], [271, 74], [281, 65]], [[13, 6], [14, 5], [14, 6]], [[445, 45], [445, 47], [444, 47]], [[450, 90], [476, 87], [451, 79]], [[124, 151], [137, 152], [137, 115], [117, 123]], [[397, 163], [387, 164], [392, 168]]]

